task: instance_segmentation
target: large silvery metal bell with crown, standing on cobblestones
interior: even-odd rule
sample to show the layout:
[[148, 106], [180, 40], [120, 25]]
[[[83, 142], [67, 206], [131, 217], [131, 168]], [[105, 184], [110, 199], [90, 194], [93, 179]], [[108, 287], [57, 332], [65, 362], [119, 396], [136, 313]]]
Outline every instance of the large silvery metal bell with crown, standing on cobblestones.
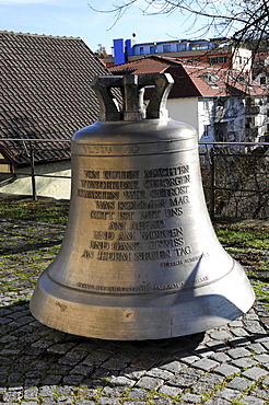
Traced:
[[[148, 107], [143, 89], [155, 86]], [[167, 117], [169, 74], [100, 77], [100, 120], [72, 139], [66, 235], [31, 311], [63, 332], [157, 339], [241, 316], [255, 296], [213, 231], [195, 129]], [[122, 107], [113, 88], [122, 93]], [[116, 90], [117, 92], [117, 90]]]

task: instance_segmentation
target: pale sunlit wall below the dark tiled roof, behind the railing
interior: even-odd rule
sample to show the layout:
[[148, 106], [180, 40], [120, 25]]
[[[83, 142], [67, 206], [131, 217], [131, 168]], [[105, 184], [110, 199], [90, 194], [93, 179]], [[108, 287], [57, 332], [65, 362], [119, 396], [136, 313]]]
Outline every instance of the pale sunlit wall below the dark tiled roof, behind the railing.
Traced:
[[[35, 166], [36, 174], [71, 176], [71, 160], [47, 163]], [[31, 167], [20, 167], [15, 171], [17, 180], [0, 187], [0, 193], [32, 195]], [[70, 178], [35, 177], [37, 197], [54, 197], [69, 199], [71, 193]]]

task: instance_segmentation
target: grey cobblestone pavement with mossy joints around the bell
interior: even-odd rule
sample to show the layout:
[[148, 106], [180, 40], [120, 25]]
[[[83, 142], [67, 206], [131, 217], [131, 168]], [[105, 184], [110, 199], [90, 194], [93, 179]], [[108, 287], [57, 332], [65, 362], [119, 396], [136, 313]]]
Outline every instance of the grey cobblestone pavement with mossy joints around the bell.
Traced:
[[60, 225], [0, 221], [0, 404], [269, 404], [269, 311], [186, 337], [83, 338], [33, 319], [38, 275], [58, 252]]

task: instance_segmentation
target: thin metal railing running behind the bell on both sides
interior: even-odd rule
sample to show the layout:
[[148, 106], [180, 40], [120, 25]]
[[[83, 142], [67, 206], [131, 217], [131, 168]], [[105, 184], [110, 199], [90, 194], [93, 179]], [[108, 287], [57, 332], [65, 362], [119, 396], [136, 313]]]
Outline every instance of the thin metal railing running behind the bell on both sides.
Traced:
[[[33, 143], [43, 143], [43, 142], [54, 142], [54, 143], [60, 143], [60, 142], [65, 142], [65, 143], [70, 143], [70, 157], [71, 157], [71, 140], [67, 140], [67, 139], [57, 139], [57, 140], [51, 140], [51, 139], [15, 139], [15, 138], [10, 138], [10, 139], [5, 139], [5, 140], [9, 140], [9, 141], [20, 141], [20, 142], [23, 142], [24, 144], [24, 151], [26, 151], [27, 153], [27, 157], [28, 157], [28, 160], [30, 160], [30, 173], [16, 173], [16, 176], [31, 176], [31, 181], [32, 181], [32, 196], [33, 196], [33, 200], [37, 200], [37, 188], [36, 188], [36, 177], [51, 177], [51, 178], [71, 178], [71, 176], [67, 176], [67, 175], [56, 175], [56, 174], [40, 174], [40, 173], [36, 173], [36, 162], [35, 162], [35, 152], [37, 151], [36, 148], [33, 147]], [[27, 142], [28, 142], [28, 147], [27, 147]], [[258, 190], [258, 189], [249, 189], [249, 188], [232, 188], [232, 187], [221, 187], [221, 186], [218, 186], [217, 184], [217, 159], [218, 159], [218, 151], [215, 150], [215, 147], [227, 147], [227, 146], [232, 146], [232, 147], [268, 147], [269, 148], [269, 142], [199, 142], [199, 146], [204, 146], [206, 148], [206, 151], [203, 150], [199, 150], [199, 154], [200, 157], [207, 157], [207, 160], [208, 160], [208, 165], [210, 167], [210, 182], [209, 182], [209, 185], [203, 185], [203, 188], [204, 189], [209, 189], [209, 201], [207, 201], [208, 206], [209, 206], [209, 211], [210, 211], [210, 217], [212, 220], [215, 219], [215, 207], [217, 207], [217, 193], [219, 190], [223, 190], [223, 192], [243, 192], [243, 193], [262, 193], [262, 194], [268, 194], [269, 190]], [[209, 148], [210, 147], [210, 148]], [[23, 150], [23, 149], [22, 149]], [[0, 148], [0, 151], [1, 151], [1, 148]], [[40, 151], [40, 149], [38, 149], [38, 151]], [[232, 153], [230, 151], [230, 154], [231, 157], [235, 157], [235, 155], [238, 155], [238, 153]], [[242, 154], [241, 154], [242, 155]], [[247, 158], [248, 154], [245, 154], [245, 157]], [[269, 159], [269, 157], [268, 157]], [[70, 167], [71, 169], [71, 167]], [[1, 188], [0, 188], [1, 190]]]

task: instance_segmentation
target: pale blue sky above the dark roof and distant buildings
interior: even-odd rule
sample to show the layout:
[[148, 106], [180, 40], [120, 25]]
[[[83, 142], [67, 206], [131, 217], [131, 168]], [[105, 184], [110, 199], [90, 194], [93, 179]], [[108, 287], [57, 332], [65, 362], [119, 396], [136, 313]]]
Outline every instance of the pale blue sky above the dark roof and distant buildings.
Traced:
[[103, 10], [122, 3], [121, 0], [0, 0], [0, 31], [81, 37], [93, 51], [102, 44], [108, 54], [114, 38], [131, 38], [132, 33], [137, 43], [195, 37], [194, 32], [188, 32], [190, 23], [184, 23], [179, 12], [143, 16], [140, 11], [143, 1], [139, 0], [113, 26], [113, 14], [94, 12], [89, 1]]

